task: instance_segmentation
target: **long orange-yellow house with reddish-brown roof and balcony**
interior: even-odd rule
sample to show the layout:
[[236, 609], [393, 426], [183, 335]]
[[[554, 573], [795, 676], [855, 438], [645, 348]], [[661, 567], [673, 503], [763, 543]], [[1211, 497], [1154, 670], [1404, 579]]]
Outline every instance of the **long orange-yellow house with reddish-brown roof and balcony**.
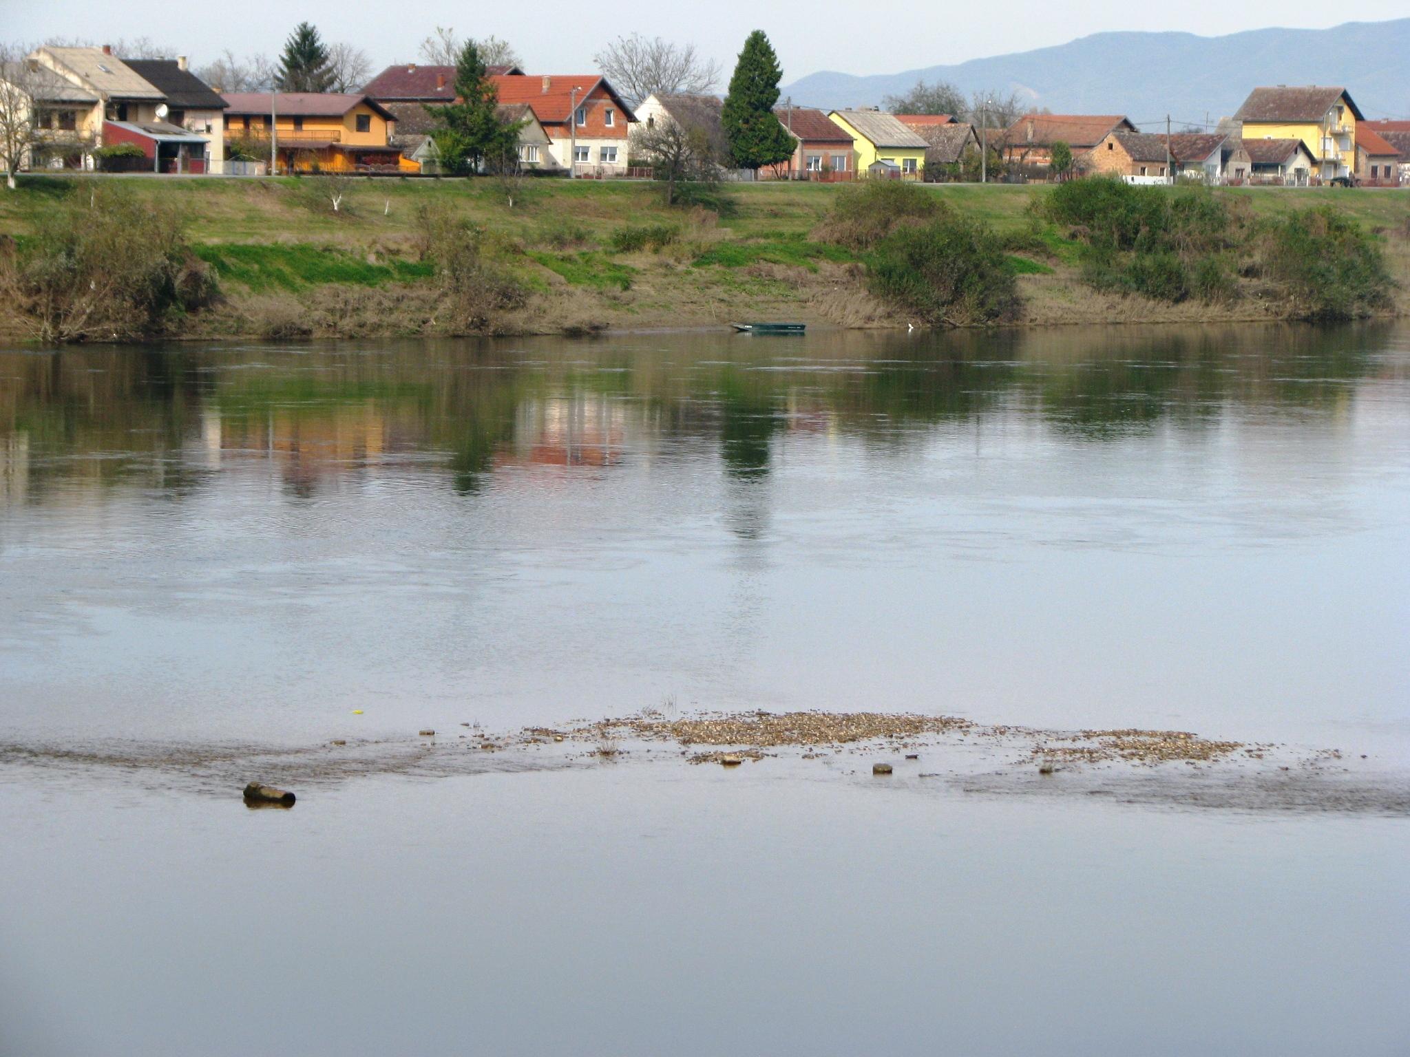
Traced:
[[266, 161], [274, 148], [282, 172], [398, 169], [402, 152], [391, 142], [396, 118], [367, 96], [227, 92], [224, 97], [227, 148], [234, 144], [257, 161]]

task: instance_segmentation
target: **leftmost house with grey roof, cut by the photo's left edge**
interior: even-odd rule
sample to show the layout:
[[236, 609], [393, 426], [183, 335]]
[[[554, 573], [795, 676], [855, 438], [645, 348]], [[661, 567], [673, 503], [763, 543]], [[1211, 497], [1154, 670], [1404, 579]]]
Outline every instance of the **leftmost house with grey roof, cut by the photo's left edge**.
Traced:
[[[99, 96], [28, 59], [0, 65], [0, 106], [24, 107], [32, 141], [20, 169], [82, 169], [102, 140]], [[23, 118], [21, 118], [23, 120]]]

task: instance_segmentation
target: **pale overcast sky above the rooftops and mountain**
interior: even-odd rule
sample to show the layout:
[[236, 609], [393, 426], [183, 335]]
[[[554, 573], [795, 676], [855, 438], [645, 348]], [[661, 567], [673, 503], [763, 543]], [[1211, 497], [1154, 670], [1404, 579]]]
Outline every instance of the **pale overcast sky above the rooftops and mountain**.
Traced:
[[784, 82], [830, 69], [846, 73], [897, 73], [987, 55], [1063, 44], [1110, 30], [1180, 30], [1207, 37], [1269, 24], [1325, 28], [1345, 21], [1404, 17], [1406, 0], [1352, 0], [1347, 6], [1285, 0], [1235, 4], [1186, 0], [1134, 4], [1090, 0], [1083, 6], [1052, 0], [990, 0], [967, 4], [780, 3], [716, 0], [709, 4], [565, 0], [467, 4], [453, 0], [237, 0], [214, 7], [172, 0], [0, 0], [0, 37], [106, 39], [151, 37], [209, 62], [223, 48], [237, 55], [278, 52], [295, 23], [309, 20], [326, 39], [364, 48], [381, 68], [416, 58], [416, 47], [436, 25], [461, 34], [495, 34], [510, 41], [530, 72], [587, 73], [606, 41], [633, 30], [649, 37], [692, 41], [733, 66], [750, 30], [764, 30], [784, 65]]

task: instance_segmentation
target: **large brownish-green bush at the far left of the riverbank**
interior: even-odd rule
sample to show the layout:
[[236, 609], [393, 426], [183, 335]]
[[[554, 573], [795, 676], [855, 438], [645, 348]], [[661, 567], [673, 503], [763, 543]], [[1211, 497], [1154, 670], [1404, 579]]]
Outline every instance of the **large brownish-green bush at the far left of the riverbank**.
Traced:
[[216, 293], [180, 216], [120, 185], [78, 185], [0, 255], [0, 296], [41, 341], [149, 337]]

